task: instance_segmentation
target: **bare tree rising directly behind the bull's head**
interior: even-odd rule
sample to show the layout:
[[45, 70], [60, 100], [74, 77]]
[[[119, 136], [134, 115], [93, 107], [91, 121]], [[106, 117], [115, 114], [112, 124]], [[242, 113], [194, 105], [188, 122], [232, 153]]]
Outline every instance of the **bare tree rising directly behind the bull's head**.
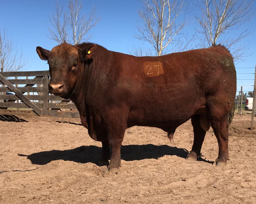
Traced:
[[68, 42], [74, 45], [82, 40], [88, 41], [91, 38], [91, 35], [88, 35], [89, 31], [97, 25], [100, 18], [95, 17], [94, 6], [87, 19], [85, 15], [81, 15], [81, 9], [81, 1], [69, 0], [67, 14], [57, 1], [52, 19], [49, 18], [52, 28], [48, 27], [50, 36], [47, 37], [59, 43]]

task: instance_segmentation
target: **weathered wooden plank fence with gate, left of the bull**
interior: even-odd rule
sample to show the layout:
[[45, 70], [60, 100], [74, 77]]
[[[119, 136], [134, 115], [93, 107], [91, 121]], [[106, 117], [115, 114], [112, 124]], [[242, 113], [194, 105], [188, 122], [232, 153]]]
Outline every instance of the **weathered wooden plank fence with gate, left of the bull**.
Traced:
[[49, 71], [0, 72], [0, 114], [79, 117], [69, 99], [48, 92]]

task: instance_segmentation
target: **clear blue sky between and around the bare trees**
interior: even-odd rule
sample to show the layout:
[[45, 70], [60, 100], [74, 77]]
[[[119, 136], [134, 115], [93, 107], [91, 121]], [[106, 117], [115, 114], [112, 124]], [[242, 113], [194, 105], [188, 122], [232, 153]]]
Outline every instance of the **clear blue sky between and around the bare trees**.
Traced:
[[[199, 9], [196, 4], [199, 1], [190, 1], [189, 12], [186, 14], [188, 25], [184, 32], [194, 33], [197, 26], [195, 15]], [[68, 0], [59, 0], [59, 4], [65, 7]], [[28, 65], [25, 70], [47, 70], [46, 62], [39, 59], [36, 53], [36, 46], [41, 46], [51, 50], [58, 43], [47, 38], [48, 26], [50, 26], [49, 17], [55, 9], [54, 0], [44, 1], [18, 1], [1, 0], [0, 5], [0, 27], [4, 26], [8, 30], [8, 37], [17, 42], [17, 48], [22, 48], [23, 54], [28, 57]], [[138, 0], [120, 1], [120, 0], [84, 0], [83, 13], [88, 13], [95, 5], [97, 15], [101, 17], [100, 22], [91, 30], [91, 42], [100, 44], [109, 50], [129, 54], [132, 47], [142, 45], [142, 42], [135, 39], [137, 33], [136, 25], [140, 22], [138, 10], [141, 3]], [[256, 8], [256, 2], [253, 5]], [[249, 44], [248, 57], [244, 62], [236, 63], [237, 68], [255, 67], [256, 64], [256, 15], [252, 20], [241, 26], [239, 30], [233, 33], [239, 33], [240, 29], [249, 27], [253, 32], [243, 40], [243, 44]], [[232, 33], [232, 34], [233, 34]], [[142, 46], [149, 47], [146, 43]], [[171, 49], [170, 49], [171, 52]], [[237, 69], [238, 85], [253, 85], [254, 69]], [[238, 88], [239, 89], [239, 88]], [[244, 86], [245, 91], [252, 90], [252, 86]]]

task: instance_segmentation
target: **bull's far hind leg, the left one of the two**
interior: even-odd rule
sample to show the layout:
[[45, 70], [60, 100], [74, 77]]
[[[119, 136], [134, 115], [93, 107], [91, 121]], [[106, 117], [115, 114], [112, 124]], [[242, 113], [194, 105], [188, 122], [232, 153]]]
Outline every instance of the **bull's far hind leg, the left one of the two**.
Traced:
[[194, 130], [194, 142], [192, 150], [188, 153], [186, 160], [196, 161], [197, 157], [201, 156], [201, 148], [204, 142], [205, 131], [200, 125], [200, 116], [195, 115], [191, 118], [191, 123]]

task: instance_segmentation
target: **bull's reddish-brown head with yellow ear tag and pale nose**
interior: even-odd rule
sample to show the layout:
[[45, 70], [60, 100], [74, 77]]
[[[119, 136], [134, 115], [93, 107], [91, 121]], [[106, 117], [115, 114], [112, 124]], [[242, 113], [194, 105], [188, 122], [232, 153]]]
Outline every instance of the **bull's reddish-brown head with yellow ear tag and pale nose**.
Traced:
[[51, 76], [48, 84], [49, 92], [62, 98], [70, 98], [79, 74], [95, 48], [95, 44], [81, 48], [67, 43], [53, 47], [51, 51], [36, 47], [39, 57], [47, 60], [49, 64]]

